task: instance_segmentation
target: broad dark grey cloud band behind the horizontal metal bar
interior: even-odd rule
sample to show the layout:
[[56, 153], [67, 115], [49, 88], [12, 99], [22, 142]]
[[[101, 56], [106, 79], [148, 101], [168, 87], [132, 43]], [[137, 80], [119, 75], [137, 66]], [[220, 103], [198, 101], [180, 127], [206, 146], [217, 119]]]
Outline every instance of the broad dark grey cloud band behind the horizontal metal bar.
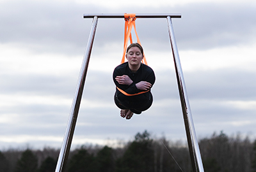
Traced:
[[[115, 13], [123, 9], [54, 1], [16, 1], [1, 6], [4, 9], [0, 11], [2, 43], [20, 43], [35, 51], [72, 55], [83, 54], [86, 47], [92, 19], [83, 19], [84, 13]], [[127, 6], [124, 11], [131, 9], [139, 13], [182, 13], [181, 19], [173, 19], [180, 50], [244, 45], [254, 41], [255, 4], [193, 3], [138, 9]], [[170, 48], [165, 19], [138, 19], [137, 25], [140, 39], [146, 46], [159, 50]], [[95, 46], [102, 47], [109, 41], [122, 44], [123, 35], [123, 20], [100, 18]]]

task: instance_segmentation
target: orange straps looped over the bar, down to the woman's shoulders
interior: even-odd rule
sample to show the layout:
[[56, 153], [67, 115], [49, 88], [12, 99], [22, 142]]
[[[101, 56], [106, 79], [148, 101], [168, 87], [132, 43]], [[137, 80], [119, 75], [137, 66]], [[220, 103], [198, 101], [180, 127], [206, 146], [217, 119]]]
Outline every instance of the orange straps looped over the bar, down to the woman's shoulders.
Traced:
[[[128, 43], [128, 39], [129, 38], [130, 38], [130, 43], [132, 43], [132, 35], [131, 35], [132, 25], [133, 25], [134, 31], [136, 33], [137, 42], [141, 45], [139, 36], [137, 34], [137, 31], [136, 31], [136, 26], [135, 26], [136, 14], [134, 14], [134, 13], [132, 13], [132, 14], [125, 13], [124, 14], [124, 20], [125, 20], [124, 52], [123, 52], [123, 57], [122, 57], [121, 64], [124, 63], [124, 61], [125, 61], [125, 52], [126, 52], [126, 49], [127, 49], [127, 43]], [[142, 59], [142, 62], [144, 64], [147, 64], [147, 60], [146, 60], [145, 54], [144, 54], [144, 58]]]

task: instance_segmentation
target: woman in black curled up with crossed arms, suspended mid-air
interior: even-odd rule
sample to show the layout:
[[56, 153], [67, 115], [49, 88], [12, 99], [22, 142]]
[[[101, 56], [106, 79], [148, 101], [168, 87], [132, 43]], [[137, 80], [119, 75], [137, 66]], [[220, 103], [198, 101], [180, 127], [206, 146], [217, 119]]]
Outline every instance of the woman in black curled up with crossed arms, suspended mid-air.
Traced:
[[144, 55], [139, 43], [127, 47], [127, 62], [117, 66], [113, 72], [116, 85], [115, 104], [120, 108], [120, 116], [130, 119], [134, 113], [140, 114], [152, 105], [150, 89], [156, 76], [146, 64], [141, 63]]

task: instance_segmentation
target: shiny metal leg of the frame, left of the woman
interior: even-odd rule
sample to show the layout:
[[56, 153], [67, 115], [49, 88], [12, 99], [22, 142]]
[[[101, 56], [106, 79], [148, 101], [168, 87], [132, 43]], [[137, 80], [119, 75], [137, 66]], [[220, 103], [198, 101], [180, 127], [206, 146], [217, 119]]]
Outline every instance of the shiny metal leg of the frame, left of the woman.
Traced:
[[65, 166], [67, 164], [68, 154], [70, 151], [70, 146], [72, 143], [72, 138], [73, 138], [74, 130], [76, 127], [76, 120], [77, 120], [77, 115], [78, 115], [79, 107], [80, 107], [80, 103], [81, 103], [81, 97], [83, 95], [84, 82], [85, 82], [85, 78], [86, 78], [88, 64], [90, 61], [90, 55], [92, 52], [92, 45], [93, 45], [93, 39], [94, 39], [96, 28], [97, 28], [97, 22], [98, 22], [98, 18], [95, 16], [93, 18], [92, 29], [91, 29], [90, 36], [88, 39], [86, 52], [84, 53], [83, 64], [81, 66], [81, 70], [80, 70], [80, 74], [79, 74], [79, 78], [78, 78], [78, 82], [77, 82], [76, 93], [75, 93], [72, 107], [70, 110], [68, 124], [67, 124], [67, 128], [66, 128], [65, 136], [63, 138], [63, 143], [62, 143], [62, 147], [60, 150], [60, 155], [58, 158], [55, 172], [64, 171]]

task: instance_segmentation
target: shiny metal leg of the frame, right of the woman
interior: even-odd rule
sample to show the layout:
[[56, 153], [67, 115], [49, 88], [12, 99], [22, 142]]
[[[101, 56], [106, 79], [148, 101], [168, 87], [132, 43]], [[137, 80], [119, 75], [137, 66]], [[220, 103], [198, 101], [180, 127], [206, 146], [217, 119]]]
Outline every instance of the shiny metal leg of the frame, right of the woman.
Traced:
[[170, 41], [171, 41], [171, 45], [172, 45], [172, 52], [173, 52], [173, 59], [174, 59], [174, 63], [175, 63], [177, 83], [179, 86], [180, 103], [182, 106], [182, 112], [183, 112], [184, 124], [185, 124], [185, 128], [186, 128], [186, 134], [187, 134], [187, 139], [188, 139], [192, 167], [193, 167], [194, 172], [196, 172], [198, 170], [200, 172], [203, 172], [204, 167], [202, 164], [202, 158], [200, 155], [198, 141], [196, 139], [195, 127], [193, 124], [193, 119], [192, 119], [191, 110], [190, 110], [190, 106], [189, 106], [188, 95], [186, 92], [186, 86], [185, 86], [185, 82], [184, 82], [182, 68], [180, 65], [179, 53], [178, 53], [178, 48], [176, 45], [176, 40], [175, 40], [175, 36], [174, 36], [174, 30], [173, 30], [173, 26], [172, 26], [171, 17], [167, 17], [167, 23], [168, 23], [168, 31], [169, 31]]

